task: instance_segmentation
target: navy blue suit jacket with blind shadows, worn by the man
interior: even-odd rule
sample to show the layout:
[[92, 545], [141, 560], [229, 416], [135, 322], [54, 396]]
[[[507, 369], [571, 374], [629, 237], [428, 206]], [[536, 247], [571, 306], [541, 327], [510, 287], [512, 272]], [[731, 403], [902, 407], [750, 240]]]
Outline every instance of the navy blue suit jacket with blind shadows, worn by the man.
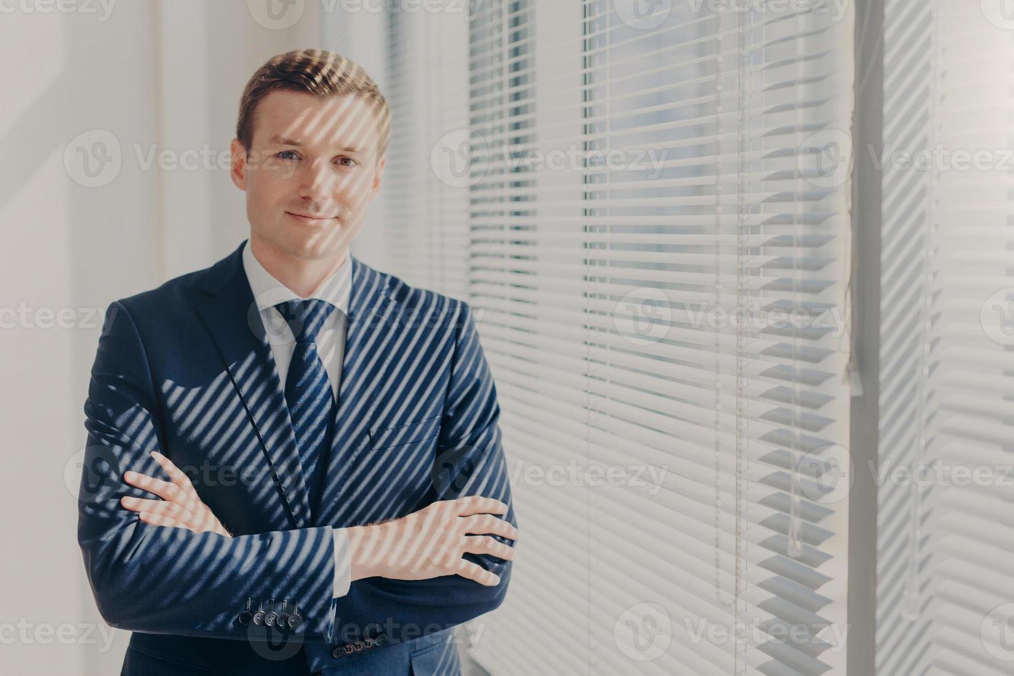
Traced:
[[[333, 528], [467, 495], [510, 504], [496, 390], [464, 302], [351, 257], [334, 444], [311, 518], [285, 395], [243, 272], [245, 243], [106, 311], [84, 405], [85, 570], [103, 619], [135, 631], [128, 663], [174, 661], [177, 671], [165, 673], [191, 673], [185, 665], [193, 673], [307, 673], [307, 665], [334, 666], [336, 647], [356, 645], [351, 657], [368, 673], [369, 656], [504, 599], [510, 561], [474, 554], [466, 556], [501, 577], [498, 586], [458, 576], [372, 578], [333, 599]], [[151, 450], [191, 476], [236, 537], [152, 526], [121, 506], [125, 495], [153, 498], [125, 483], [125, 471], [165, 478]], [[506, 518], [516, 525], [513, 508]], [[278, 612], [283, 600], [286, 612], [295, 606], [302, 616], [284, 635], [238, 619], [248, 602]], [[356, 644], [381, 633], [382, 645]], [[265, 658], [269, 645], [285, 649]], [[286, 650], [291, 659], [282, 659]]]

